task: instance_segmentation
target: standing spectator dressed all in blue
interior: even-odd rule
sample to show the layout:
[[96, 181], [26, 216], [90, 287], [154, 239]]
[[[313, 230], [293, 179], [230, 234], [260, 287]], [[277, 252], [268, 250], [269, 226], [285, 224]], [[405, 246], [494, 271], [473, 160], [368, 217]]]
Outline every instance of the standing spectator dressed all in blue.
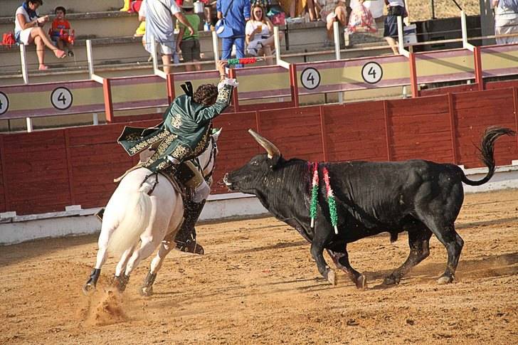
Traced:
[[[236, 58], [245, 57], [245, 24], [250, 19], [250, 0], [218, 0], [218, 18], [225, 15], [226, 26], [232, 28], [233, 36], [223, 38], [221, 60], [231, 58], [232, 46], [236, 45]], [[240, 68], [241, 65], [236, 65]]]

